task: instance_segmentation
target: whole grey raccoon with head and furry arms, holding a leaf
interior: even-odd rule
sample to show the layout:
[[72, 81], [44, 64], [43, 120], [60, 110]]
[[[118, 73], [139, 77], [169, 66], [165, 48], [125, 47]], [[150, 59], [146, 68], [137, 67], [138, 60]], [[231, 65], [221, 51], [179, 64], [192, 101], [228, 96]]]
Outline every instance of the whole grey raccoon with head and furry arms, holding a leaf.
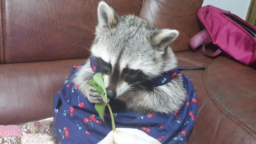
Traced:
[[[177, 30], [155, 28], [134, 15], [119, 16], [102, 1], [95, 35], [91, 56], [102, 72], [108, 98], [123, 100], [128, 109], [142, 113], [168, 114], [184, 104], [187, 94], [179, 76], [151, 90], [141, 85], [177, 67], [169, 46], [178, 37]], [[93, 76], [88, 60], [74, 81], [90, 102], [100, 103], [101, 94], [89, 85]]]

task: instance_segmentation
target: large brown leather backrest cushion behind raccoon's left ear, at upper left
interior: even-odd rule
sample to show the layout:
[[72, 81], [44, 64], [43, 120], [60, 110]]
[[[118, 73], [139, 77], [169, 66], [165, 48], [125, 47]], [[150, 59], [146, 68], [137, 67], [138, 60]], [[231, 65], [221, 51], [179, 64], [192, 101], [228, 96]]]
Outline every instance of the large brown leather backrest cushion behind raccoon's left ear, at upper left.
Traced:
[[[143, 0], [105, 1], [119, 14], [138, 15]], [[0, 63], [88, 58], [98, 2], [1, 0]]]

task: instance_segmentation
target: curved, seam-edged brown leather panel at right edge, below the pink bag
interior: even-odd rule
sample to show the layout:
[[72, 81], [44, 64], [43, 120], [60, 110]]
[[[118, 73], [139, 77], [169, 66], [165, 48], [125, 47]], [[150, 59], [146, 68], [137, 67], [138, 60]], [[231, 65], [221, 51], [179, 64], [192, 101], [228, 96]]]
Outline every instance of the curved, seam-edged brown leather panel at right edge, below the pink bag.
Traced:
[[204, 78], [220, 106], [256, 132], [256, 70], [220, 57], [210, 64]]

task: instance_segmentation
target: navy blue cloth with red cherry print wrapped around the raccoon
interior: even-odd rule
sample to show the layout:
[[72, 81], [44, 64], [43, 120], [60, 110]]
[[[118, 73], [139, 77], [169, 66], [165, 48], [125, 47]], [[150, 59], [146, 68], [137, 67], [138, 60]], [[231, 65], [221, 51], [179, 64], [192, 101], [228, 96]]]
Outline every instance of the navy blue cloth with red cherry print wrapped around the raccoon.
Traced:
[[[96, 73], [97, 65], [90, 59], [92, 70]], [[78, 90], [72, 77], [83, 64], [74, 66], [70, 76], [64, 82], [60, 92], [54, 96], [54, 128], [58, 140], [62, 144], [96, 144], [111, 130], [112, 124], [108, 109], [105, 111], [103, 122], [94, 108]], [[196, 68], [197, 69], [197, 68]], [[200, 69], [200, 68], [199, 68]], [[167, 84], [176, 76], [181, 76], [188, 98], [184, 105], [172, 114], [140, 114], [126, 109], [120, 110], [124, 103], [111, 100], [110, 105], [114, 114], [116, 128], [136, 128], [149, 136], [156, 138], [162, 144], [185, 144], [196, 120], [197, 98], [190, 78], [180, 74], [178, 69], [170, 70], [154, 79], [148, 88]], [[115, 108], [116, 107], [116, 108]]]

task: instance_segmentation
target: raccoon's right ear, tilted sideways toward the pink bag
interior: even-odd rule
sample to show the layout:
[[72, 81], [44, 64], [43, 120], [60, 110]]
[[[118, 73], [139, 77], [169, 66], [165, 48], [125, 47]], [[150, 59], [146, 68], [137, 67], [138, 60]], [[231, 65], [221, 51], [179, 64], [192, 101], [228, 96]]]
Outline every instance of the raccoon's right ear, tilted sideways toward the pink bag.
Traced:
[[161, 29], [152, 37], [152, 46], [160, 51], [164, 50], [179, 36], [178, 30]]

